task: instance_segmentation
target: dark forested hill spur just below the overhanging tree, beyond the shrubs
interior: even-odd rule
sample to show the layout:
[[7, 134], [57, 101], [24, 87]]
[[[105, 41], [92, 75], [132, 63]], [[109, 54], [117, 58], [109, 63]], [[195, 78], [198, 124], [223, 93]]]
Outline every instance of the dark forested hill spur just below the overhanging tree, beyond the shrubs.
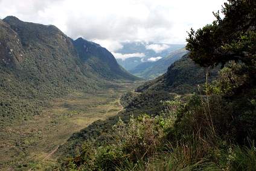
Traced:
[[[136, 92], [144, 92], [146, 90], [164, 90], [179, 94], [198, 92], [197, 85], [206, 81], [207, 69], [194, 63], [188, 56], [189, 54], [186, 54], [181, 60], [171, 64], [163, 75], [140, 85]], [[209, 82], [217, 77], [219, 69], [220, 67], [208, 69]]]

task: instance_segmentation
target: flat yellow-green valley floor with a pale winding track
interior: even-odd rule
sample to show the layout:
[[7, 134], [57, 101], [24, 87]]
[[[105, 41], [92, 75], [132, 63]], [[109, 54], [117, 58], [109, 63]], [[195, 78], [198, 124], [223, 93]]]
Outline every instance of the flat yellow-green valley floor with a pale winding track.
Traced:
[[120, 96], [138, 83], [94, 93], [72, 93], [55, 99], [51, 107], [31, 120], [13, 123], [0, 131], [0, 170], [45, 170], [56, 164], [60, 145], [95, 120], [123, 109]]

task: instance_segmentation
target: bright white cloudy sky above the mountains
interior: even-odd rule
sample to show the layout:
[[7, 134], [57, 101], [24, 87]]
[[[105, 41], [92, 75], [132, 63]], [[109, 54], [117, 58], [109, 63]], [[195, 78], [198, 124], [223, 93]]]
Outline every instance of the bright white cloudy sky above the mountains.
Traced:
[[[121, 42], [185, 44], [187, 31], [211, 23], [225, 0], [0, 0], [0, 18], [55, 25], [115, 52]], [[155, 51], [154, 50], [154, 51]], [[142, 54], [140, 54], [142, 55]]]

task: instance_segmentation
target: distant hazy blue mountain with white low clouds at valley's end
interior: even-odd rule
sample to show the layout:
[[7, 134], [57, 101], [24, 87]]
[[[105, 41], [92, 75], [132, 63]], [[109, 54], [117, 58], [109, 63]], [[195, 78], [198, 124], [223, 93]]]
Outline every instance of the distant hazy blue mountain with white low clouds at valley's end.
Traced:
[[166, 57], [173, 51], [184, 48], [185, 45], [153, 42], [123, 42], [123, 48], [115, 54], [130, 55], [130, 58], [117, 58], [118, 63], [127, 70], [132, 70], [141, 63], [150, 61], [149, 58]]

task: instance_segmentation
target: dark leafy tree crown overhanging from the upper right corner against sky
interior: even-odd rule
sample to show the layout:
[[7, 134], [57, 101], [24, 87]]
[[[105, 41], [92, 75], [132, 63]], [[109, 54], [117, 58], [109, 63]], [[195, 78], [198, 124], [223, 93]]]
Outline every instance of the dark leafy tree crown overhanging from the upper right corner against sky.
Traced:
[[222, 13], [223, 19], [218, 11], [214, 13], [213, 23], [188, 33], [186, 48], [190, 58], [205, 67], [224, 65], [230, 60], [255, 67], [255, 0], [228, 0]]

